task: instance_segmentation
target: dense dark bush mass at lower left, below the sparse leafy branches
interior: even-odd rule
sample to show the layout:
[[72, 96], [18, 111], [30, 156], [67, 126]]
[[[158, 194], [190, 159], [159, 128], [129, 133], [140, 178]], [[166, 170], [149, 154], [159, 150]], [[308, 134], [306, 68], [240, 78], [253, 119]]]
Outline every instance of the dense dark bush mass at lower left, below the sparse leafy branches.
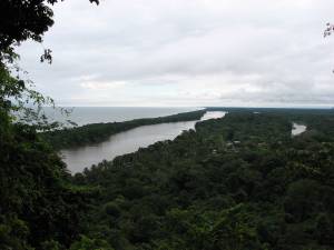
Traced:
[[[80, 230], [89, 192], [72, 188], [60, 158], [33, 128], [0, 122], [0, 227], [4, 246], [46, 249], [51, 239], [68, 244]], [[14, 247], [22, 242], [22, 247]], [[26, 243], [24, 243], [26, 242]], [[1, 246], [0, 249], [3, 249]]]

